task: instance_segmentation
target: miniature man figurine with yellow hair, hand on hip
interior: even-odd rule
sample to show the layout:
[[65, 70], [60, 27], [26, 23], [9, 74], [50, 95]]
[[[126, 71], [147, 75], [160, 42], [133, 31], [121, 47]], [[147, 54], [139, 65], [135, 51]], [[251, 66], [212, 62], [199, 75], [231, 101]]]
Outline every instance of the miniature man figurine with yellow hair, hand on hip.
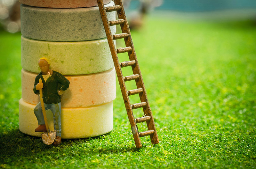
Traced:
[[[50, 69], [49, 60], [42, 57], [38, 61], [41, 72], [35, 78], [34, 93], [39, 94], [39, 89], [43, 90], [43, 100], [45, 110], [51, 109], [53, 114], [53, 126], [57, 131], [57, 136], [52, 145], [60, 145], [61, 143], [61, 121], [60, 121], [60, 96], [69, 87], [69, 81], [59, 72]], [[39, 79], [42, 83], [39, 83]], [[34, 113], [38, 121], [38, 127], [35, 132], [46, 132], [41, 102], [39, 102]]]

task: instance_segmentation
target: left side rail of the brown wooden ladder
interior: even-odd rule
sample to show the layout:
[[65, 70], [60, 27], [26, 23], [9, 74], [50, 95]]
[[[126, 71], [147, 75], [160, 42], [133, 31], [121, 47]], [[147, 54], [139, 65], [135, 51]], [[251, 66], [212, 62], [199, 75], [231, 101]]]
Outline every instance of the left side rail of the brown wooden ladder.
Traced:
[[126, 111], [127, 111], [128, 119], [129, 119], [130, 124], [131, 124], [132, 135], [133, 135], [136, 147], [140, 148], [140, 147], [142, 147], [141, 142], [140, 142], [140, 136], [139, 136], [138, 128], [137, 128], [137, 125], [136, 125], [136, 122], [135, 122], [135, 119], [134, 119], [134, 116], [133, 116], [132, 107], [131, 107], [131, 104], [130, 104], [130, 99], [129, 99], [129, 96], [127, 94], [126, 86], [125, 86], [125, 83], [124, 83], [124, 78], [123, 78], [121, 66], [120, 66], [119, 61], [118, 61], [118, 56], [117, 56], [117, 53], [116, 53], [116, 47], [115, 47], [115, 44], [114, 44], [114, 40], [112, 38], [112, 33], [110, 31], [110, 26], [108, 24], [108, 19], [107, 19], [107, 14], [106, 14], [106, 11], [105, 11], [104, 3], [103, 3], [103, 0], [97, 0], [97, 2], [98, 2], [99, 9], [100, 9], [100, 14], [101, 14], [102, 22], [103, 22], [103, 25], [104, 25], [104, 28], [105, 28], [105, 32], [106, 32], [106, 35], [107, 35], [110, 52], [111, 52], [113, 62], [114, 62], [114, 65], [115, 65], [116, 75], [117, 75], [118, 82], [119, 82], [121, 92], [122, 92], [122, 95], [123, 95], [124, 105], [125, 105], [125, 108], [126, 108]]

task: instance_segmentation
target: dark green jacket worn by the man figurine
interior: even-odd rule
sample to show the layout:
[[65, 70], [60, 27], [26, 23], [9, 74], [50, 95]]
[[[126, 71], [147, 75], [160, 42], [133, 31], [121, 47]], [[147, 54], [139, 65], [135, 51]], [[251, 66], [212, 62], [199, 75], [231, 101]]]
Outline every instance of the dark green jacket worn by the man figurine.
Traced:
[[68, 89], [69, 87], [68, 79], [66, 79], [66, 77], [61, 75], [59, 72], [53, 71], [52, 76], [50, 76], [45, 82], [42, 72], [40, 72], [35, 78], [35, 84], [34, 84], [35, 94], [39, 94], [39, 90], [36, 90], [36, 85], [39, 83], [40, 77], [44, 84], [44, 87], [43, 87], [44, 103], [45, 104], [60, 103], [60, 96], [58, 94], [58, 91], [60, 89], [63, 91]]

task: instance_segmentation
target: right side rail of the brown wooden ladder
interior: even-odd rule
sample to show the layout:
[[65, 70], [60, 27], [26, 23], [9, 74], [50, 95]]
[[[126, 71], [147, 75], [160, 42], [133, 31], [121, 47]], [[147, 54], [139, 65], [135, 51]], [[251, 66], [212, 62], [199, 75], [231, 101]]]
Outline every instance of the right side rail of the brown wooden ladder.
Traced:
[[147, 115], [147, 116], [151, 117], [151, 120], [147, 121], [148, 130], [154, 130], [155, 131], [154, 134], [150, 135], [151, 143], [152, 144], [157, 144], [157, 143], [159, 143], [159, 140], [158, 140], [158, 136], [157, 136], [157, 132], [156, 132], [156, 126], [155, 126], [155, 122], [154, 122], [154, 118], [153, 118], [153, 115], [152, 115], [151, 108], [149, 106], [148, 97], [147, 97], [145, 85], [144, 85], [144, 82], [143, 82], [143, 78], [142, 78], [142, 75], [141, 75], [141, 72], [140, 72], [140, 66], [139, 66], [139, 63], [138, 63], [138, 60], [137, 60], [134, 45], [132, 43], [131, 32], [130, 32], [130, 29], [129, 29], [129, 26], [128, 26], [127, 19], [125, 17], [124, 6], [123, 6], [123, 4], [120, 0], [114, 0], [114, 2], [115, 2], [116, 5], [121, 6], [121, 10], [117, 11], [117, 16], [118, 16], [119, 19], [124, 19], [124, 21], [125, 21], [124, 24], [121, 24], [120, 26], [121, 26], [122, 31], [124, 30], [123, 33], [128, 33], [129, 34], [128, 37], [124, 38], [125, 45], [126, 45], [126, 47], [130, 46], [133, 49], [131, 52], [128, 52], [129, 59], [136, 61], [135, 65], [132, 66], [132, 71], [133, 71], [133, 74], [139, 74], [140, 75], [140, 77], [138, 79], [136, 79], [135, 82], [136, 82], [137, 88], [142, 88], [143, 89], [143, 92], [139, 93], [140, 101], [147, 103], [147, 106], [143, 107], [144, 115]]

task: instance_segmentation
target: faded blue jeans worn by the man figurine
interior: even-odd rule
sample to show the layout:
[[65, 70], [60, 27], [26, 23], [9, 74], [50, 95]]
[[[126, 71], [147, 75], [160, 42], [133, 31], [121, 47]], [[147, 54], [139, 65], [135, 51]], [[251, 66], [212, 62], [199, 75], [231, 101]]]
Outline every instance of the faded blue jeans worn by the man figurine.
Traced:
[[[44, 107], [45, 107], [45, 110], [51, 109], [53, 114], [54, 130], [57, 131], [57, 136], [61, 136], [60, 103], [57, 103], [57, 104], [52, 103], [49, 105], [44, 103]], [[45, 124], [41, 102], [39, 102], [34, 108], [34, 113], [36, 115], [38, 125]]]

